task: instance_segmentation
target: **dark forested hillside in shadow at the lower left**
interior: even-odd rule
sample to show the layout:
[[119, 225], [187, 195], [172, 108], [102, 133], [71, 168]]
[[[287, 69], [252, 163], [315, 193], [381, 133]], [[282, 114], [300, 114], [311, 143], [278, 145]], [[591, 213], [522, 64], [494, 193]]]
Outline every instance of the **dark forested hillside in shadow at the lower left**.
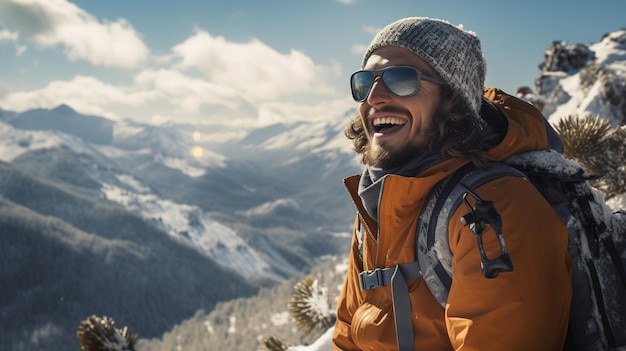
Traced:
[[70, 349], [86, 313], [157, 336], [258, 289], [116, 204], [6, 164], [0, 191], [3, 350]]

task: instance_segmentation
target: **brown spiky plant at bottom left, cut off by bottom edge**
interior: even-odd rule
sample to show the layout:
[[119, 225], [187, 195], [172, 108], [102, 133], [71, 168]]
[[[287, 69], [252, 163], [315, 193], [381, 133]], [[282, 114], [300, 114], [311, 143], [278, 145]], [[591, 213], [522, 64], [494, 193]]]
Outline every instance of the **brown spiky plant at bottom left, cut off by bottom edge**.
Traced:
[[117, 329], [113, 319], [95, 315], [80, 323], [76, 337], [83, 351], [134, 351], [137, 341], [127, 327]]

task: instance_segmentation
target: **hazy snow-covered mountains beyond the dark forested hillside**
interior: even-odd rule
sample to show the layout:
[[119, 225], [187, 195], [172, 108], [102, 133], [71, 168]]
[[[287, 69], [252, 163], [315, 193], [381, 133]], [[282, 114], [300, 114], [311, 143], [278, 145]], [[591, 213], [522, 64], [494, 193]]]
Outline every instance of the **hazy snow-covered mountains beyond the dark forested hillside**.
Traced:
[[[103, 198], [140, 214], [244, 277], [284, 279], [302, 263], [285, 256], [285, 248], [274, 247], [271, 239], [261, 235], [253, 239], [250, 234], [242, 237], [234, 228], [241, 226], [234, 225], [240, 219], [264, 227], [293, 227], [293, 221], [300, 220], [300, 225], [311, 221], [315, 231], [335, 228], [328, 233], [344, 225], [347, 228], [349, 223], [347, 216], [345, 223], [335, 222], [334, 218], [341, 218], [336, 211], [314, 208], [323, 202], [341, 207], [335, 197], [339, 199], [343, 193], [324, 189], [339, 188], [341, 177], [358, 169], [342, 135], [346, 115], [332, 123], [229, 131], [174, 123], [113, 122], [82, 116], [65, 105], [21, 114], [2, 112], [0, 160], [25, 162], [23, 156], [38, 150], [66, 149], [87, 155], [95, 164], [84, 172], [100, 184]], [[55, 119], [65, 122], [55, 125]], [[67, 127], [71, 123], [82, 128]], [[229, 137], [216, 138], [216, 133]], [[98, 137], [101, 134], [109, 137]], [[31, 169], [36, 167], [46, 165], [39, 163]], [[45, 170], [39, 172], [48, 176]], [[317, 178], [317, 183], [305, 181], [302, 186], [291, 181], [309, 177]], [[319, 194], [318, 200], [315, 194]], [[246, 231], [250, 230], [254, 229]], [[323, 250], [320, 254], [326, 254]]]

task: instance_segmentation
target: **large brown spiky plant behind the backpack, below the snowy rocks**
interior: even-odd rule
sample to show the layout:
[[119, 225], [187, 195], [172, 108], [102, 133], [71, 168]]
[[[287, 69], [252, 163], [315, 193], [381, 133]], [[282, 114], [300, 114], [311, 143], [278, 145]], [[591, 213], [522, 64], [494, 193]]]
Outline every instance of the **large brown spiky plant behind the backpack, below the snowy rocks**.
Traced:
[[563, 154], [597, 176], [590, 183], [605, 198], [626, 192], [626, 126], [611, 128], [608, 120], [567, 116], [555, 126], [563, 140]]

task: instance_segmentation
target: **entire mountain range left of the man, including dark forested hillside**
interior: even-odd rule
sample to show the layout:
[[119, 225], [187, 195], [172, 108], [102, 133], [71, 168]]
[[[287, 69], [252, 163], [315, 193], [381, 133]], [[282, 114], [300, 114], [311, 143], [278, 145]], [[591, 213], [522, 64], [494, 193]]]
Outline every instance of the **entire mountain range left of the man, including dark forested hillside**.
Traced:
[[[0, 110], [0, 253], [11, 258], [0, 271], [0, 348], [71, 348], [76, 323], [95, 311], [157, 337], [344, 253], [353, 212], [341, 178], [359, 168], [346, 123], [340, 114], [233, 130], [114, 122], [66, 105]], [[15, 283], [24, 276], [37, 278]], [[35, 308], [54, 295], [69, 312]]]

